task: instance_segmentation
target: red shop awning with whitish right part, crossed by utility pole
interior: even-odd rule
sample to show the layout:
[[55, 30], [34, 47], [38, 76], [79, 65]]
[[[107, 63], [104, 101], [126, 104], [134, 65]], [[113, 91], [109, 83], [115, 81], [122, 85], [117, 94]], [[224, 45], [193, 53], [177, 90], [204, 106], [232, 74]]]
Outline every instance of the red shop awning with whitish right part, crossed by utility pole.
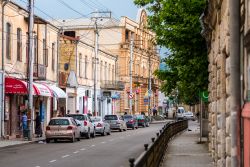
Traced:
[[[5, 78], [5, 93], [27, 94], [27, 92], [27, 82], [16, 78]], [[33, 95], [52, 96], [52, 93], [47, 87], [33, 83]]]

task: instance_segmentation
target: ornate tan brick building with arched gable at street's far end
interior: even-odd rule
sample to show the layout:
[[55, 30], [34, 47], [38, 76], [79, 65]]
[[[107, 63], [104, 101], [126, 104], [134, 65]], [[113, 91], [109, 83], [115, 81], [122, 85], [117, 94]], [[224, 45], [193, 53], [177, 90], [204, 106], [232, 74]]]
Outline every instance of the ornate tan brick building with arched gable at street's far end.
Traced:
[[[129, 110], [130, 42], [133, 36], [133, 113], [147, 113], [149, 69], [151, 70], [152, 76], [151, 106], [158, 104], [159, 83], [152, 74], [159, 68], [160, 57], [157, 54], [157, 48], [154, 44], [155, 34], [146, 28], [147, 14], [145, 10], [138, 12], [136, 21], [122, 17], [120, 20], [114, 18], [99, 18], [96, 22], [99, 33], [99, 48], [118, 56], [114, 71], [116, 73], [116, 80], [119, 82], [115, 85], [125, 83], [124, 89], [115, 93], [120, 97], [116, 99], [119, 100], [120, 103], [119, 108], [116, 107], [116, 112], [124, 113]], [[63, 20], [61, 23], [64, 30], [74, 30], [76, 36], [81, 38], [82, 41], [91, 45], [95, 44], [95, 20]], [[104, 62], [99, 61], [100, 72], [102, 66], [104, 69], [108, 68], [108, 71], [112, 71], [113, 69], [112, 65], [107, 64], [106, 66]], [[103, 74], [105, 75], [105, 73]], [[105, 80], [102, 76], [103, 75], [100, 75], [101, 83]]]

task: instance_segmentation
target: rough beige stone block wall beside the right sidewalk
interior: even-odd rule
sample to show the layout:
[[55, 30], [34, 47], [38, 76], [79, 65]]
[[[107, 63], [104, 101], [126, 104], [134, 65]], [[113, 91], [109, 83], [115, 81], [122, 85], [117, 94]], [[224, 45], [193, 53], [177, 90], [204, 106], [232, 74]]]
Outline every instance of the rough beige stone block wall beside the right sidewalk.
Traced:
[[[209, 151], [215, 166], [230, 166], [229, 8], [228, 1], [210, 1]], [[217, 6], [217, 8], [215, 8]]]

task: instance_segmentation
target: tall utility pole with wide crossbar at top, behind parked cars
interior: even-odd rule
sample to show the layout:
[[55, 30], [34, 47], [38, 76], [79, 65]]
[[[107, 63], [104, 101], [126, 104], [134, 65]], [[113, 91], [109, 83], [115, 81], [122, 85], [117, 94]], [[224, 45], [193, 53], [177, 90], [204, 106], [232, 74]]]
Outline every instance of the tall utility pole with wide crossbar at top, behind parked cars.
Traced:
[[[95, 20], [95, 60], [94, 60], [94, 115], [97, 114], [97, 90], [96, 90], [96, 85], [97, 85], [97, 60], [98, 60], [98, 40], [99, 40], [99, 30], [98, 30], [98, 25], [97, 25], [97, 20], [103, 19], [103, 18], [111, 18], [111, 12], [110, 11], [103, 11], [103, 12], [92, 12], [94, 16], [92, 19]], [[103, 14], [103, 16], [99, 16], [99, 14]], [[107, 14], [109, 14], [107, 16]], [[102, 116], [102, 112], [100, 111], [100, 116]]]

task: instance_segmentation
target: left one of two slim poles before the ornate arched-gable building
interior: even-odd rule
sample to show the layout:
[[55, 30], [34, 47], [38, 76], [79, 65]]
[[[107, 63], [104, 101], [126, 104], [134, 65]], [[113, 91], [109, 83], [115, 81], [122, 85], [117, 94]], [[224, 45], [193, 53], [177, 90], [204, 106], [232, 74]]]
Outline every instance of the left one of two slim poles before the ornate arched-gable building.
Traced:
[[133, 88], [132, 88], [132, 79], [133, 79], [133, 47], [134, 47], [134, 38], [131, 36], [131, 40], [130, 40], [130, 68], [129, 68], [129, 85], [130, 85], [130, 89], [129, 89], [129, 114], [133, 114], [132, 113], [132, 97], [133, 96]]

